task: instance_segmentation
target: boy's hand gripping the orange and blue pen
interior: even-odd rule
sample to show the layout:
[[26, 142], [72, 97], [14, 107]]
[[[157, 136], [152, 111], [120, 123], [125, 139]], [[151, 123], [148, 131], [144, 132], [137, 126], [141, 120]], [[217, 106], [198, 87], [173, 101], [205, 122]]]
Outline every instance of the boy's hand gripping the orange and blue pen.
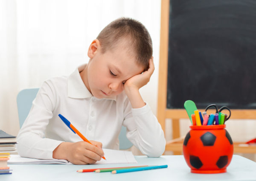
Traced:
[[76, 143], [63, 142], [52, 154], [53, 158], [66, 159], [73, 164], [93, 164], [104, 156], [102, 143], [98, 141], [85, 141]]

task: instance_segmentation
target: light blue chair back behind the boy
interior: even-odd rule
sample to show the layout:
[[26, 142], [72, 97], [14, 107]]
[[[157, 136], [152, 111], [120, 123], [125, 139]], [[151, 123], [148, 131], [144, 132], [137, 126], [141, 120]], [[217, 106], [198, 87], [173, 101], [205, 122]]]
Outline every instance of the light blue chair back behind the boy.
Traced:
[[[17, 107], [19, 115], [20, 127], [24, 123], [29, 111], [32, 107], [32, 102], [38, 93], [39, 88], [23, 89], [17, 95]], [[119, 134], [119, 149], [129, 149], [133, 144], [126, 138], [126, 127], [122, 126]]]

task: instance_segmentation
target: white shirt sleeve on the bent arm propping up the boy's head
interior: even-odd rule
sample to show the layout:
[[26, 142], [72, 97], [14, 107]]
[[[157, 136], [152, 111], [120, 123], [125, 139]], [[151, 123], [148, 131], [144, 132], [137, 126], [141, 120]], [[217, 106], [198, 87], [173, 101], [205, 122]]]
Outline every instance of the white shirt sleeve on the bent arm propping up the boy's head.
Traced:
[[165, 150], [163, 130], [148, 104], [139, 109], [125, 111], [123, 125], [127, 127], [127, 138], [148, 157], [159, 157]]

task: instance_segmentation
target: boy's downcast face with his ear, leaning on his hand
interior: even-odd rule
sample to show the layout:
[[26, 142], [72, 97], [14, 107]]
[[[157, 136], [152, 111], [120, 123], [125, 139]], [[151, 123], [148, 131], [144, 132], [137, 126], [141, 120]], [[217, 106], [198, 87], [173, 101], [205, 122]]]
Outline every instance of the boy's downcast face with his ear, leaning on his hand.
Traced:
[[118, 95], [124, 90], [126, 80], [143, 72], [144, 67], [137, 65], [134, 52], [128, 51], [130, 48], [125, 44], [120, 43], [102, 54], [98, 40], [93, 43], [88, 50], [87, 76], [82, 79], [96, 98]]

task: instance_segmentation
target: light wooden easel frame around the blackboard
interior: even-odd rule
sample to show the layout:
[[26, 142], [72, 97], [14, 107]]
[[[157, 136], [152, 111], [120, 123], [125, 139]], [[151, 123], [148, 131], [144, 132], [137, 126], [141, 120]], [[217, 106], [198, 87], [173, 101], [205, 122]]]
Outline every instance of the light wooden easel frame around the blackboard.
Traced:
[[[166, 133], [165, 121], [172, 119], [172, 138], [180, 140], [180, 119], [187, 119], [185, 109], [167, 109], [167, 77], [168, 77], [168, 41], [169, 41], [169, 0], [161, 1], [161, 25], [160, 25], [160, 57], [158, 77], [157, 119]], [[203, 110], [201, 110], [203, 111]], [[233, 109], [231, 119], [256, 119], [256, 110]], [[166, 144], [166, 150], [172, 150], [180, 154], [182, 143], [171, 145], [175, 141]], [[256, 147], [240, 147], [234, 144], [235, 153], [256, 153]]]

